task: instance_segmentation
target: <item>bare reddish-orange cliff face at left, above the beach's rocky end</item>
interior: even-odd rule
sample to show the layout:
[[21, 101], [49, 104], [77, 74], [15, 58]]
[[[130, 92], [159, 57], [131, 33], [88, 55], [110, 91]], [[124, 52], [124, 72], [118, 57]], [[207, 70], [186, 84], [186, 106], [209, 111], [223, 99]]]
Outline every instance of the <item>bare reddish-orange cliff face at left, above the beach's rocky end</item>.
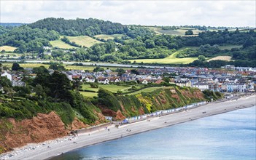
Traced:
[[[10, 151], [28, 143], [41, 143], [63, 137], [69, 133], [61, 118], [55, 113], [38, 113], [33, 119], [17, 121], [15, 119], [0, 120], [0, 153]], [[86, 127], [78, 119], [74, 119], [70, 129]]]

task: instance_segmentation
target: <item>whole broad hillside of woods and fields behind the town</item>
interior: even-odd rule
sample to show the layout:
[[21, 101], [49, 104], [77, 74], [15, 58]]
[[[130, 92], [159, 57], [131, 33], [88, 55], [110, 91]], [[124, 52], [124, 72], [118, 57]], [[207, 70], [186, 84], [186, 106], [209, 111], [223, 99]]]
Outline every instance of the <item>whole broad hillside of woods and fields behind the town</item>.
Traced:
[[[202, 31], [204, 29], [207, 31]], [[238, 62], [239, 66], [256, 66], [253, 61], [256, 60], [254, 30], [208, 29], [199, 25], [146, 27], [122, 25], [94, 18], [65, 20], [49, 17], [19, 27], [0, 25], [0, 47], [15, 47], [17, 49], [13, 52], [31, 53], [34, 56], [46, 52], [45, 47], [53, 47], [51, 55], [42, 55], [42, 58], [50, 60], [91, 60], [111, 63], [122, 60], [130, 60], [128, 62], [131, 63], [133, 60], [135, 63], [180, 64], [195, 61], [198, 56], [204, 56], [206, 60], [229, 56], [231, 60], [244, 60], [243, 65]], [[225, 49], [221, 49], [222, 47]], [[188, 49], [172, 55], [182, 48]], [[65, 49], [69, 51], [64, 51]], [[1, 49], [1, 52], [8, 50]], [[205, 64], [197, 60], [192, 65]]]

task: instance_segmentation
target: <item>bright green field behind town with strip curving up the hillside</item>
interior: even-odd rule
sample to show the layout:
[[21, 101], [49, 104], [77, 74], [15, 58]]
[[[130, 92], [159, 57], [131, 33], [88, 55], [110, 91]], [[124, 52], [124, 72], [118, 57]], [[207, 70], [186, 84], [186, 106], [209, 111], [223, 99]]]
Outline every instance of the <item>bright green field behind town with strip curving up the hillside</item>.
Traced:
[[[195, 47], [190, 47], [195, 48]], [[186, 48], [182, 48], [186, 49]], [[136, 63], [162, 63], [162, 64], [187, 64], [192, 63], [194, 60], [197, 60], [197, 57], [185, 57], [185, 58], [177, 58], [177, 54], [179, 54], [182, 49], [178, 49], [177, 52], [174, 52], [168, 57], [161, 58], [161, 59], [136, 59], [136, 60], [129, 60], [131, 62], [136, 61]]]

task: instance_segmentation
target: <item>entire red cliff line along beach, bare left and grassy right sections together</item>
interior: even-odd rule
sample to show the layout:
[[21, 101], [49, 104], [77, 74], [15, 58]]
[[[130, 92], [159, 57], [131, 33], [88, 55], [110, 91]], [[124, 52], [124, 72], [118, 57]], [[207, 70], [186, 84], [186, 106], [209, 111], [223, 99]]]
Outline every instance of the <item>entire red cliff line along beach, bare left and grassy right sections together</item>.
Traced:
[[[94, 108], [90, 115], [95, 115], [94, 119], [96, 119], [93, 123], [80, 121], [75, 116], [74, 119], [71, 119], [71, 123], [65, 125], [63, 118], [69, 116], [60, 114], [61, 110], [59, 112], [52, 111], [48, 114], [37, 113], [31, 119], [0, 119], [0, 153], [28, 143], [41, 143], [45, 140], [63, 137], [71, 130], [89, 127], [88, 124], [101, 124], [106, 121], [103, 115], [123, 120], [129, 116], [179, 108], [204, 100], [203, 93], [200, 90], [180, 87], [165, 87], [153, 92], [141, 92], [137, 95], [125, 96], [117, 96], [113, 95], [112, 92], [101, 90], [99, 95], [96, 105], [101, 111], [90, 103], [90, 105], [93, 105], [91, 108]], [[66, 114], [71, 113], [67, 112]], [[90, 116], [86, 118], [90, 120]]]

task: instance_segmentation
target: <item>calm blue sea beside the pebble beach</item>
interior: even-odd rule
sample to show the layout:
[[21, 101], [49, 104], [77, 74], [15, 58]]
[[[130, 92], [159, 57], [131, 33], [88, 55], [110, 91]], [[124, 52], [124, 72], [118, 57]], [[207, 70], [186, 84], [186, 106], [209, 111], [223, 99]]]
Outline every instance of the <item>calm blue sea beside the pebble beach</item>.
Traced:
[[79, 148], [51, 160], [69, 159], [256, 159], [256, 106]]

